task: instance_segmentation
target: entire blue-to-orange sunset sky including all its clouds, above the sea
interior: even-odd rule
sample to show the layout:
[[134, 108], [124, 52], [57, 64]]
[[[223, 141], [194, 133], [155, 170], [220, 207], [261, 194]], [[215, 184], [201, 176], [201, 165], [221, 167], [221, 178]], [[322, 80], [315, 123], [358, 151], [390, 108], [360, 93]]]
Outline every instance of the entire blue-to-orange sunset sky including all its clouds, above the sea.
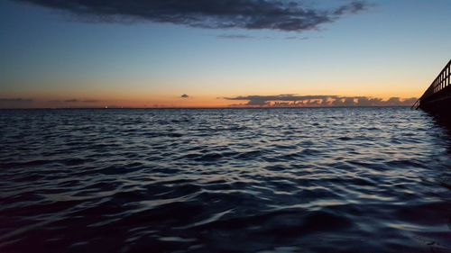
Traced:
[[2, 0], [0, 108], [410, 105], [449, 0]]

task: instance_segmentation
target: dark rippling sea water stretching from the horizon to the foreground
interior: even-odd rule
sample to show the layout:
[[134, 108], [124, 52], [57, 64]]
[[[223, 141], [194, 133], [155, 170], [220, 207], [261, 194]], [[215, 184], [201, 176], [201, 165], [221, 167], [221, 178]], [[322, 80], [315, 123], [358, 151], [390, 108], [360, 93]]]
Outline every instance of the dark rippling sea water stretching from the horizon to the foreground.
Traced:
[[0, 111], [0, 252], [451, 252], [407, 108]]

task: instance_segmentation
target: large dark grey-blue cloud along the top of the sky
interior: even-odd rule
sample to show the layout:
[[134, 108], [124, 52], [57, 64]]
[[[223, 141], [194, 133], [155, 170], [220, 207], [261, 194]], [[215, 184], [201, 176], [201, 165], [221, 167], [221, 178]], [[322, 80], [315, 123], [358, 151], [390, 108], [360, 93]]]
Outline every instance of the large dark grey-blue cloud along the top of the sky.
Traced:
[[364, 1], [318, 9], [299, 0], [13, 0], [75, 14], [88, 22], [150, 21], [201, 28], [269, 29], [302, 32], [356, 14]]

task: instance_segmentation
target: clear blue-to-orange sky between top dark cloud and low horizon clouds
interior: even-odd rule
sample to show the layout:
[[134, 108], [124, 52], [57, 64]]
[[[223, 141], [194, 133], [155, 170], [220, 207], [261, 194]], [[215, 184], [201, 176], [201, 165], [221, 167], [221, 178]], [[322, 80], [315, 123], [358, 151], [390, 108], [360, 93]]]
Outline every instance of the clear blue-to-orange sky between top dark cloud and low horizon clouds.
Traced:
[[318, 30], [286, 32], [99, 23], [2, 1], [0, 98], [196, 106], [239, 95], [421, 95], [450, 59], [451, 2], [366, 3]]

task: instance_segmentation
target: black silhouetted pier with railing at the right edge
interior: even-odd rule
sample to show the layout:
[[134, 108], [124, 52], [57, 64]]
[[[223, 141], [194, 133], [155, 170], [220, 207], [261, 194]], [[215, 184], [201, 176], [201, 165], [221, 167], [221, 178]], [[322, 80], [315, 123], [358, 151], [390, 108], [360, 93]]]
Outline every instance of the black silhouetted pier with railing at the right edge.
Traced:
[[451, 115], [451, 60], [412, 108]]

